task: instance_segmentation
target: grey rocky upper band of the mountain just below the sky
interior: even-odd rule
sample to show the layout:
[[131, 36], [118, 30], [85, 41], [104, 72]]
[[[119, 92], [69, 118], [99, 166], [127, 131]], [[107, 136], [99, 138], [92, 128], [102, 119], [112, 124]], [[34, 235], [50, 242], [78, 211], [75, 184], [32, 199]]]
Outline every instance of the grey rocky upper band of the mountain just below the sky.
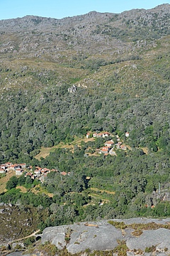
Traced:
[[[155, 9], [137, 9], [122, 14], [89, 14], [71, 18], [26, 16], [0, 22], [1, 53], [14, 58], [39, 57], [60, 63], [60, 58], [81, 53], [115, 57], [116, 53], [134, 50], [144, 40], [169, 34], [169, 4]], [[72, 54], [70, 54], [72, 53]], [[111, 56], [110, 56], [111, 57]]]

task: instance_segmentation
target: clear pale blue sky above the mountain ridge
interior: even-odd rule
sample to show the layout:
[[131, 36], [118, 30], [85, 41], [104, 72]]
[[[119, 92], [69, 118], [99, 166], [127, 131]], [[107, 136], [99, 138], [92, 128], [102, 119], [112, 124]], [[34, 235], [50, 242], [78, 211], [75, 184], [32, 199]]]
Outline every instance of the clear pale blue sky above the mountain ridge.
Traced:
[[89, 11], [120, 14], [131, 9], [152, 9], [170, 0], [0, 0], [0, 20], [26, 15], [64, 18]]

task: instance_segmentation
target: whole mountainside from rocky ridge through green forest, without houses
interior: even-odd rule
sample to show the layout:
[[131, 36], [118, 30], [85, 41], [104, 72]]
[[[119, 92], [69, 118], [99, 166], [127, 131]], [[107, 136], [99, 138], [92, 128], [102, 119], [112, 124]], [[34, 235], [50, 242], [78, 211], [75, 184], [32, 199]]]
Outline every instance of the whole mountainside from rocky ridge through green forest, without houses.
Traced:
[[[169, 216], [170, 5], [61, 20], [26, 16], [0, 21], [0, 33], [0, 162], [59, 171], [34, 181], [42, 193], [23, 179], [27, 193], [14, 186], [1, 201], [39, 207], [41, 229]], [[127, 149], [96, 154], [105, 140], [84, 142], [89, 131], [118, 135]]]

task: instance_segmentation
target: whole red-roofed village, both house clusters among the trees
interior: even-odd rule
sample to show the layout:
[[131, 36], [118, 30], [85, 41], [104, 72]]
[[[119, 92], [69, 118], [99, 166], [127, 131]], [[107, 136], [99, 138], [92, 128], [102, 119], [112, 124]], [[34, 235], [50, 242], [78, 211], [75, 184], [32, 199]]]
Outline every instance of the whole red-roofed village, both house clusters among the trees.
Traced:
[[[112, 137], [112, 135], [109, 132], [100, 132], [100, 133], [91, 133], [88, 132], [86, 134], [86, 138], [89, 139], [90, 137], [93, 138], [107, 138], [107, 137]], [[106, 142], [104, 143], [103, 147], [100, 149], [96, 149], [96, 152], [98, 154], [104, 154], [105, 156], [107, 156], [108, 154], [116, 156], [116, 152], [115, 149], [122, 149], [122, 150], [127, 150], [127, 146], [125, 146], [125, 144], [123, 144], [123, 142], [120, 141], [120, 137], [118, 135], [115, 135], [117, 143], [113, 142], [113, 139], [110, 140], [106, 140]], [[125, 133], [125, 137], [128, 138], [129, 137], [129, 132]], [[22, 174], [24, 176], [30, 176], [30, 178], [34, 179], [38, 179], [41, 182], [45, 181], [45, 177], [47, 176], [47, 174], [49, 174], [51, 171], [56, 171], [58, 173], [60, 173], [62, 176], [69, 176], [69, 172], [65, 172], [65, 171], [58, 171], [57, 169], [47, 169], [47, 168], [41, 168], [39, 166], [35, 166], [35, 168], [33, 169], [32, 166], [27, 166], [26, 163], [24, 164], [13, 164], [11, 162], [7, 162], [5, 164], [0, 164], [0, 174], [8, 174], [11, 171], [15, 172], [14, 174], [16, 176], [21, 176]]]

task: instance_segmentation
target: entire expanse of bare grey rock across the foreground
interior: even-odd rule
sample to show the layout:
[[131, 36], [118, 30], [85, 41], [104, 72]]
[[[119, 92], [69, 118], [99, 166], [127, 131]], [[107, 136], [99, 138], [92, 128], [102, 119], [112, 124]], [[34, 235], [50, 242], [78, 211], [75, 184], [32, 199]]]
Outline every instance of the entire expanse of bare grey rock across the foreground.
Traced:
[[[170, 222], [170, 218], [166, 220], [132, 218], [117, 221], [124, 221], [126, 224], [151, 222], [166, 224]], [[102, 220], [45, 228], [42, 233], [42, 243], [50, 241], [60, 250], [67, 247], [68, 252], [71, 253], [84, 252], [86, 249], [113, 250], [117, 247], [118, 240], [125, 240], [129, 248], [128, 255], [135, 255], [134, 249], [141, 249], [143, 255], [150, 255], [144, 251], [146, 247], [152, 247], [152, 245], [156, 247], [157, 255], [158, 253], [161, 255], [170, 253], [170, 230], [165, 228], [143, 230], [142, 235], [135, 237], [132, 235], [132, 229], [126, 228], [122, 232], [108, 224], [107, 220]]]

